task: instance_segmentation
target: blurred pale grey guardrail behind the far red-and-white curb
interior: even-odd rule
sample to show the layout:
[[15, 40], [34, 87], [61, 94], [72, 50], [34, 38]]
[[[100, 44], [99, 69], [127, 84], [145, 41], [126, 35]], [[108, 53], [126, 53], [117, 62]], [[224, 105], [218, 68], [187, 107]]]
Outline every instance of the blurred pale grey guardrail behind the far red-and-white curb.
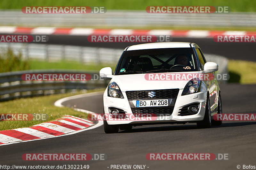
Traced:
[[256, 26], [253, 12], [230, 13], [147, 13], [108, 10], [104, 14], [24, 14], [20, 10], [0, 10], [1, 25], [70, 27], [246, 27]]

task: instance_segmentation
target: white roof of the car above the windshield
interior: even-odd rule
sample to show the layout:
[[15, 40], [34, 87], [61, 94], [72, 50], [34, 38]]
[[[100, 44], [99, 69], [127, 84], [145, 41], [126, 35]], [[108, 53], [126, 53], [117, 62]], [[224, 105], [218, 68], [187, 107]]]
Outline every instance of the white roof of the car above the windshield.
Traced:
[[[132, 45], [125, 48], [126, 51], [139, 50], [139, 49], [155, 49], [155, 48], [190, 48], [190, 42], [153, 42]], [[194, 44], [194, 43], [193, 43]]]

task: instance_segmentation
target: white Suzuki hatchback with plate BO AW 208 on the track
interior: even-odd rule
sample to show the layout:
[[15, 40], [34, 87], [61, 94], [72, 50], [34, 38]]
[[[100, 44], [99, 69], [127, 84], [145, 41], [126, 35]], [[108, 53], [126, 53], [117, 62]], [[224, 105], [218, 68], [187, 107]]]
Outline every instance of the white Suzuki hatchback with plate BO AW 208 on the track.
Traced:
[[220, 87], [214, 77], [218, 69], [217, 63], [206, 62], [195, 43], [125, 48], [114, 74], [110, 67], [100, 70], [101, 77], [112, 78], [103, 95], [104, 131], [117, 133], [148, 124], [221, 125], [222, 121], [213, 119], [222, 114]]

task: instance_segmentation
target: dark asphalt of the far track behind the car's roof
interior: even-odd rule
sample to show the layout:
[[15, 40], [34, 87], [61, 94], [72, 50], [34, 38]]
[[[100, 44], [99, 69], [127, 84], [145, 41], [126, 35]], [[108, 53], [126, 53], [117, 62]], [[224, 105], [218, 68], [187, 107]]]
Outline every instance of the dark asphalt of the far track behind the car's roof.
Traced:
[[[124, 49], [140, 43], [134, 42], [89, 42], [87, 36], [48, 35], [47, 44], [62, 44], [86, 47], [105, 47]], [[203, 53], [223, 55], [229, 59], [256, 61], [255, 42], [214, 42], [212, 38], [173, 38], [172, 41], [194, 42]], [[121, 54], [120, 54], [121, 55]]]

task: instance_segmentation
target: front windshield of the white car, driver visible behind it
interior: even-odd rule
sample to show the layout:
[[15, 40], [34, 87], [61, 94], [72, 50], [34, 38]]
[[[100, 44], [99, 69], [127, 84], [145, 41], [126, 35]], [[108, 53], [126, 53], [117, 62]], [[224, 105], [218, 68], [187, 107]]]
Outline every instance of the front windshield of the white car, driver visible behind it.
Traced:
[[116, 74], [197, 71], [195, 63], [192, 48], [131, 50], [124, 51]]

